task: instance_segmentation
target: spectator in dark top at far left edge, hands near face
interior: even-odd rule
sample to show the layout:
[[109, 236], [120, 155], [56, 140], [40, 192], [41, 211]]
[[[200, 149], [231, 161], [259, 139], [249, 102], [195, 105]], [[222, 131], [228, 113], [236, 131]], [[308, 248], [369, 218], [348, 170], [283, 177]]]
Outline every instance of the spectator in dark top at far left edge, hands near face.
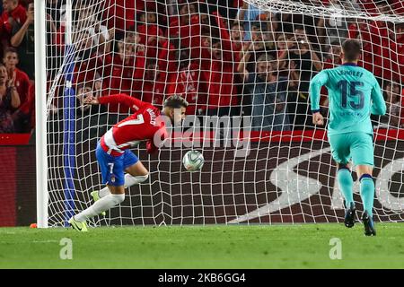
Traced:
[[7, 69], [0, 64], [0, 133], [14, 133], [13, 112], [21, 105], [15, 87], [15, 74], [10, 78]]

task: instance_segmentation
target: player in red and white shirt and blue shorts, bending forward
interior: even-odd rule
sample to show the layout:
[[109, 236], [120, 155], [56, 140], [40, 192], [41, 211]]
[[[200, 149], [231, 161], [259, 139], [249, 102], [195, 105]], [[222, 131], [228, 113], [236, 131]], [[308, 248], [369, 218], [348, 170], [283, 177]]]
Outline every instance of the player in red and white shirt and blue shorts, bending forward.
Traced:
[[148, 102], [125, 94], [101, 98], [90, 96], [84, 102], [92, 105], [120, 103], [131, 109], [133, 115], [112, 126], [97, 144], [96, 156], [101, 168], [102, 183], [107, 187], [93, 191], [91, 195], [95, 203], [69, 220], [71, 226], [79, 231], [87, 230], [86, 220], [123, 202], [126, 187], [142, 183], [148, 178], [148, 170], [129, 148], [146, 141], [147, 152], [155, 152], [167, 138], [162, 116], [169, 117], [171, 123], [177, 125], [184, 119], [188, 106], [188, 102], [178, 95], [165, 100], [162, 111]]

